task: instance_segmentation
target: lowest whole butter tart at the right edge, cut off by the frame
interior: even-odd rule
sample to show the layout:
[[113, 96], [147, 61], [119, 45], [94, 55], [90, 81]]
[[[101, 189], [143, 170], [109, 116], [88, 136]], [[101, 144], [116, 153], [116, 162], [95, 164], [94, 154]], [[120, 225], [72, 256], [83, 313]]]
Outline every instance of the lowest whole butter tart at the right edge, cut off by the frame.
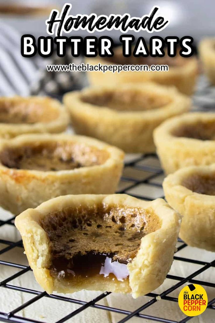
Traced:
[[181, 239], [215, 251], [215, 164], [181, 168], [166, 177], [163, 189], [168, 203], [183, 216]]

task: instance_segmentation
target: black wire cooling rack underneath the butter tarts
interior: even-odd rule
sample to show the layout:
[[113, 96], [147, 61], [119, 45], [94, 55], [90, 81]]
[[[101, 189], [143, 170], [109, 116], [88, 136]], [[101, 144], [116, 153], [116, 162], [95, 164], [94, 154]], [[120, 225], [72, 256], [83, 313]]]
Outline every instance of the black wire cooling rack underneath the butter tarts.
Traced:
[[[202, 86], [201, 86], [202, 89]], [[204, 90], [198, 93], [198, 95], [194, 98], [194, 102], [197, 102], [198, 104], [203, 100], [203, 97], [205, 97], [205, 93], [207, 92], [207, 87], [205, 87]], [[214, 102], [215, 102], [215, 95], [213, 93], [208, 96], [208, 101], [204, 100], [204, 106], [202, 106], [205, 110], [214, 110]], [[211, 106], [212, 102], [212, 106]], [[162, 191], [162, 180], [163, 180], [163, 172], [161, 170], [159, 160], [156, 155], [150, 154], [150, 155], [129, 155], [126, 157], [124, 172], [122, 175], [122, 179], [119, 185], [118, 193], [127, 193], [132, 196], [135, 196], [140, 199], [144, 200], [153, 200], [155, 198], [163, 198], [163, 191]], [[1, 215], [0, 215], [1, 219]], [[14, 219], [15, 217], [10, 217], [7, 220], [0, 220], [0, 229], [4, 226], [14, 226]], [[0, 237], [1, 238], [1, 237]], [[210, 268], [214, 268], [215, 266], [215, 260], [212, 262], [205, 262], [201, 260], [201, 250], [199, 250], [198, 257], [196, 259], [192, 259], [192, 253], [190, 253], [191, 257], [182, 257], [179, 256], [179, 252], [181, 250], [184, 250], [188, 247], [183, 241], [179, 239], [178, 241], [178, 250], [176, 251], [174, 255], [174, 262], [180, 261], [183, 263], [184, 266], [191, 266], [191, 265], [198, 265], [198, 270], [193, 270], [189, 275], [183, 276], [175, 276], [175, 275], [167, 275], [167, 279], [171, 281], [170, 287], [167, 289], [162, 290], [161, 293], [149, 293], [144, 297], [143, 304], [136, 308], [134, 311], [130, 311], [127, 308], [119, 308], [114, 306], [107, 306], [100, 304], [99, 302], [101, 300], [104, 300], [106, 297], [108, 297], [111, 293], [105, 292], [101, 293], [99, 296], [95, 297], [94, 299], [90, 301], [81, 300], [72, 298], [71, 294], [70, 297], [67, 296], [61, 296], [56, 294], [48, 295], [46, 292], [41, 292], [39, 290], [31, 289], [31, 284], [27, 284], [26, 286], [18, 286], [18, 284], [15, 284], [15, 278], [21, 277], [22, 275], [26, 274], [27, 272], [31, 271], [31, 268], [29, 266], [24, 266], [21, 263], [14, 263], [11, 261], [5, 261], [1, 260], [3, 255], [7, 255], [11, 250], [15, 248], [23, 248], [22, 240], [14, 242], [13, 237], [11, 237], [11, 240], [5, 240], [0, 239], [0, 245], [3, 246], [3, 248], [0, 250], [0, 272], [1, 272], [1, 266], [7, 266], [13, 267], [15, 269], [15, 273], [12, 276], [7, 277], [3, 281], [0, 282], [0, 293], [3, 293], [3, 289], [7, 288], [12, 291], [14, 291], [14, 297], [15, 291], [22, 292], [24, 294], [29, 294], [30, 299], [27, 301], [24, 301], [22, 305], [10, 310], [9, 312], [2, 311], [0, 312], [0, 321], [3, 322], [17, 322], [17, 323], [39, 323], [40, 321], [22, 317], [20, 315], [20, 311], [23, 309], [26, 309], [27, 307], [34, 305], [36, 302], [39, 302], [41, 299], [45, 302], [47, 298], [51, 299], [53, 301], [53, 311], [57, 311], [57, 307], [54, 305], [54, 300], [60, 301], [60, 304], [65, 304], [65, 302], [77, 304], [79, 307], [73, 311], [71, 311], [68, 315], [60, 318], [56, 321], [56, 323], [63, 323], [67, 322], [68, 320], [70, 322], [76, 322], [76, 316], [80, 314], [81, 312], [85, 311], [87, 316], [87, 309], [89, 307], [93, 307], [96, 311], [108, 311], [109, 313], [118, 313], [121, 314], [122, 319], [118, 320], [118, 323], [123, 322], [132, 322], [135, 317], [141, 318], [142, 322], [144, 323], [146, 320], [148, 321], [155, 321], [155, 322], [164, 322], [164, 323], [184, 323], [189, 321], [192, 317], [187, 317], [183, 315], [183, 317], [180, 320], [174, 320], [172, 318], [168, 317], [160, 317], [159, 313], [156, 312], [156, 308], [152, 311], [153, 315], [149, 315], [147, 313], [147, 309], [151, 307], [153, 304], [155, 304], [157, 301], [163, 300], [164, 308], [168, 308], [168, 302], [178, 302], [178, 298], [175, 296], [172, 296], [172, 292], [176, 291], [178, 288], [182, 287], [184, 284], [187, 283], [196, 283], [200, 284], [203, 287], [210, 287], [213, 288], [214, 293], [211, 295], [215, 296], [215, 283], [199, 280], [198, 275], [205, 272], [206, 270]], [[4, 257], [4, 259], [10, 259], [9, 257]], [[215, 281], [215, 280], [212, 280]], [[178, 294], [177, 294], [178, 295]], [[73, 294], [72, 294], [73, 296]], [[212, 297], [213, 298], [213, 297]], [[123, 302], [122, 302], [123, 303]], [[135, 304], [135, 303], [134, 303]], [[138, 303], [139, 304], [139, 303]], [[166, 304], [166, 306], [165, 306]], [[122, 304], [123, 307], [123, 304]], [[206, 309], [207, 311], [215, 310], [215, 298], [208, 300], [208, 307]], [[166, 310], [168, 312], [168, 310]], [[182, 313], [182, 312], [181, 312]], [[110, 317], [110, 315], [109, 315]], [[211, 316], [210, 316], [211, 317]], [[215, 317], [215, 311], [214, 316]], [[213, 320], [213, 319], [212, 319]], [[212, 323], [212, 320], [209, 319], [207, 323]], [[45, 322], [43, 320], [43, 322]], [[50, 322], [50, 320], [49, 320]], [[54, 321], [53, 321], [54, 322]], [[88, 320], [89, 323], [94, 323], [93, 320]], [[114, 322], [117, 322], [114, 319]], [[204, 321], [206, 322], [206, 321]], [[213, 320], [215, 322], [215, 320]]]

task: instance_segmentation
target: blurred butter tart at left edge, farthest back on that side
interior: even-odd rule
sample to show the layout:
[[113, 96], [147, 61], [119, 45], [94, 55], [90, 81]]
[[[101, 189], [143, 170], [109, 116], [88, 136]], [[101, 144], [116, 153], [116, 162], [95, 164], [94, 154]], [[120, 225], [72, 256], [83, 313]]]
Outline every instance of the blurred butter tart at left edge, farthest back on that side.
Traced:
[[62, 132], [68, 123], [68, 112], [58, 100], [34, 96], [0, 98], [0, 138]]

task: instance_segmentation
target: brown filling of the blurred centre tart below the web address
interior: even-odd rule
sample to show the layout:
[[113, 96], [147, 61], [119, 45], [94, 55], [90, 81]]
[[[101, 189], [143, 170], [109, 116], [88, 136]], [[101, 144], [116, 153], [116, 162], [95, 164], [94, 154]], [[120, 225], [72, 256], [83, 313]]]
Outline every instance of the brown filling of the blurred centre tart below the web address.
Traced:
[[159, 109], [171, 102], [164, 95], [150, 95], [138, 90], [105, 90], [103, 93], [84, 94], [81, 100], [96, 106], [108, 107], [118, 111], [144, 111]]

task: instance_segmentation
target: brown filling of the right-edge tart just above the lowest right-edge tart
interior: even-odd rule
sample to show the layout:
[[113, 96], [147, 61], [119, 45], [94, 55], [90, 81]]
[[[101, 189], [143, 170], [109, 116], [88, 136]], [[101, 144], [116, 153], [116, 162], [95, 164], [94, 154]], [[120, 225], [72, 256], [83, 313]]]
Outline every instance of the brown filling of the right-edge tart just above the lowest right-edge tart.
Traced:
[[215, 121], [197, 121], [193, 124], [183, 124], [172, 131], [175, 137], [193, 138], [199, 140], [215, 140]]

